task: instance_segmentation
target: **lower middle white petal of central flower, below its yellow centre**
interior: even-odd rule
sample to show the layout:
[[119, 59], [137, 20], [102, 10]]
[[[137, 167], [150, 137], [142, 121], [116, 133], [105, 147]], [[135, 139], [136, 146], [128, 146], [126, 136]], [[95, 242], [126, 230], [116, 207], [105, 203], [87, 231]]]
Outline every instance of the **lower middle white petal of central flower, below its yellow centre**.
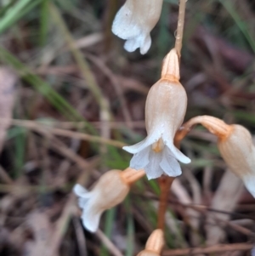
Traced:
[[161, 152], [155, 153], [154, 151], [152, 151], [152, 149], [150, 149], [150, 162], [144, 168], [148, 179], [156, 179], [164, 173], [160, 167], [161, 159]]

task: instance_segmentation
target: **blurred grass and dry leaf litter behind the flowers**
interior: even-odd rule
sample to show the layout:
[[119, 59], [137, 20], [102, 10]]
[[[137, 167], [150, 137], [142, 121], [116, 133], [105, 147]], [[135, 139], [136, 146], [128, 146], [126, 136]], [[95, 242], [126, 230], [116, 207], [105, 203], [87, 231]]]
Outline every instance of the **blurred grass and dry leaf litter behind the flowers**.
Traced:
[[[131, 256], [156, 228], [156, 180], [134, 185], [96, 234], [82, 229], [71, 192], [77, 182], [89, 188], [107, 170], [128, 167], [122, 145], [144, 138], [146, 94], [174, 45], [178, 0], [164, 1], [145, 55], [125, 52], [111, 33], [123, 3], [0, 0], [0, 63], [17, 79], [0, 141], [0, 255]], [[211, 115], [255, 133], [254, 56], [254, 1], [189, 0], [181, 59], [185, 120]], [[250, 255], [255, 201], [226, 170], [215, 137], [197, 127], [182, 150], [192, 162], [169, 195], [163, 255], [219, 242], [247, 245], [235, 255]]]

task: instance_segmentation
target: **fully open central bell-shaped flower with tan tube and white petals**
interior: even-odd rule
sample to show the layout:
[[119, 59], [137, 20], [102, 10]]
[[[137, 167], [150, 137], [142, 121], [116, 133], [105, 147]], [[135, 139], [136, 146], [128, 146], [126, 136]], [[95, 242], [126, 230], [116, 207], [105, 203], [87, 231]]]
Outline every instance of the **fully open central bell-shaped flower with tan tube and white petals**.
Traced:
[[[148, 136], [136, 145], [123, 149], [133, 154], [130, 167], [144, 169], [148, 179], [162, 174], [181, 174], [178, 161], [189, 163], [173, 145], [173, 137], [184, 120], [187, 95], [179, 80], [178, 55], [175, 49], [167, 54], [161, 79], [149, 91], [145, 105], [145, 126]], [[177, 161], [178, 160], [178, 161]]]

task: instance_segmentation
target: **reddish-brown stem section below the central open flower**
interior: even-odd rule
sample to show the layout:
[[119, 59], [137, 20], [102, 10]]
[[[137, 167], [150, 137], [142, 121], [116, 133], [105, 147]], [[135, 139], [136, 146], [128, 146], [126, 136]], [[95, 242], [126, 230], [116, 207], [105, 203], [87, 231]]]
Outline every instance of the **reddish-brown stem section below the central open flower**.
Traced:
[[162, 176], [159, 178], [159, 184], [161, 187], [161, 196], [157, 214], [157, 228], [164, 230], [165, 227], [165, 214], [167, 212], [167, 197], [168, 191], [173, 183], [174, 177]]

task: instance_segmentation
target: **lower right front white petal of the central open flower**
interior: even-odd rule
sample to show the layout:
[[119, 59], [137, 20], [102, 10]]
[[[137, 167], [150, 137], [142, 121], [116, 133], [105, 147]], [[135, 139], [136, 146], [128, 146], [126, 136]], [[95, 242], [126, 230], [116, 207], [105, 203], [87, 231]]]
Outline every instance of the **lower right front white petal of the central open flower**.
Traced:
[[172, 152], [167, 148], [167, 146], [165, 146], [163, 150], [163, 157], [160, 162], [160, 166], [170, 177], [176, 177], [182, 174], [178, 161], [175, 159], [175, 156], [173, 156]]

